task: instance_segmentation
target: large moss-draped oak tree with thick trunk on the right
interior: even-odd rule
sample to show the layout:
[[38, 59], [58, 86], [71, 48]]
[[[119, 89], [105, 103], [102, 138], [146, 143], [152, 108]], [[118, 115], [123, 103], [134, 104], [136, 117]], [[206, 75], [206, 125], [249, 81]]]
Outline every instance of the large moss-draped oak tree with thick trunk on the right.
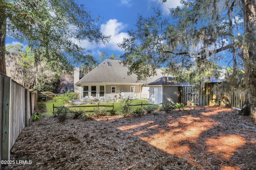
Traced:
[[144, 78], [166, 64], [176, 75], [190, 71], [202, 78], [209, 71], [214, 75], [216, 61], [229, 55], [232, 71], [228, 72], [226, 87], [242, 88], [245, 98], [241, 113], [256, 115], [256, 1], [180, 2], [182, 6], [170, 9], [172, 24], [162, 20], [159, 12], [148, 18], [139, 16], [137, 30], [130, 30], [130, 38], [119, 44], [125, 50], [122, 58], [130, 72]]

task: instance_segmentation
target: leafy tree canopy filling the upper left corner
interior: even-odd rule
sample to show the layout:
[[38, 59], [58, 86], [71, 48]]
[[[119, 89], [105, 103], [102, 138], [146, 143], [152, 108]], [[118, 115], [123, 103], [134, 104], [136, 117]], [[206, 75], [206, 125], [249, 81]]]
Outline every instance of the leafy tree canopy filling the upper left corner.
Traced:
[[0, 72], [6, 73], [6, 35], [25, 41], [36, 60], [44, 57], [56, 68], [71, 69], [81, 59], [92, 61], [81, 41], [106, 43], [109, 39], [100, 32], [97, 20], [75, 0], [0, 0]]

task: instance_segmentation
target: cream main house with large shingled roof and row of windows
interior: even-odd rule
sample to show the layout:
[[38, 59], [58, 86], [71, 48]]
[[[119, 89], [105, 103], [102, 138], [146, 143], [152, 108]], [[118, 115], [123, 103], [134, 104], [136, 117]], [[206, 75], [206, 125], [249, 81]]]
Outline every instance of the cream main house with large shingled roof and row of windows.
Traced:
[[[80, 98], [94, 96], [112, 100], [121, 92], [134, 92], [135, 98], [149, 98], [149, 86], [146, 84], [164, 76], [163, 71], [158, 69], [157, 75], [148, 78], [147, 81], [137, 81], [137, 76], [127, 75], [128, 68], [120, 63], [120, 60], [107, 59], [83, 78], [79, 78], [79, 68], [74, 69], [75, 92]], [[170, 76], [165, 74], [165, 76]]]

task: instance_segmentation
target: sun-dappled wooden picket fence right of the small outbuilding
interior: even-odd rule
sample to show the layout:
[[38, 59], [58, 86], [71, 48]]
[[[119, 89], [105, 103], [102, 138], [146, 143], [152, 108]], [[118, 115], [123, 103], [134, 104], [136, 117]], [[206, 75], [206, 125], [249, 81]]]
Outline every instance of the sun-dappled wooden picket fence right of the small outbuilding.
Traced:
[[205, 83], [204, 86], [194, 88], [192, 86], [180, 87], [180, 102], [184, 104], [197, 104], [207, 106], [230, 106], [242, 108], [244, 93], [241, 90], [231, 90], [222, 96], [217, 96], [212, 91], [216, 83]]

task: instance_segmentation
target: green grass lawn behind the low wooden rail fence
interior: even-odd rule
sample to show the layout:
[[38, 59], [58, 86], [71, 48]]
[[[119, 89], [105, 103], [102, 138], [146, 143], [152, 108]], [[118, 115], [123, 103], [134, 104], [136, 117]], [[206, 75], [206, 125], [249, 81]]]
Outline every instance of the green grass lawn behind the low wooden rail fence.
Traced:
[[[56, 96], [56, 102], [55, 99], [51, 99], [51, 100], [47, 100], [46, 102], [43, 102], [44, 104], [46, 104], [46, 113], [45, 115], [52, 115], [52, 111], [53, 111], [53, 105], [54, 106], [62, 106], [62, 102], [60, 102], [59, 100], [63, 98], [63, 96]], [[132, 105], [136, 105], [136, 104], [148, 104], [148, 100], [141, 100], [141, 99], [136, 99], [136, 100], [133, 100], [132, 101]], [[100, 106], [101, 105], [108, 105], [108, 106], [112, 106], [113, 103], [100, 103], [99, 104]], [[122, 114], [121, 113], [121, 103], [120, 102], [114, 102], [114, 109], [116, 109], [116, 114], [120, 115]], [[78, 106], [78, 105], [76, 105]], [[98, 103], [97, 104], [82, 104], [82, 105], [79, 105], [79, 106], [95, 106], [97, 107], [98, 106]], [[136, 107], [140, 107], [140, 106], [131, 106], [132, 109], [135, 109]], [[157, 107], [157, 106], [156, 106]], [[82, 109], [82, 110], [86, 110], [86, 111], [90, 111], [90, 110], [93, 110], [94, 107], [70, 107], [70, 109]], [[55, 108], [56, 109], [56, 108]], [[108, 110], [112, 109], [112, 107], [107, 107]]]

